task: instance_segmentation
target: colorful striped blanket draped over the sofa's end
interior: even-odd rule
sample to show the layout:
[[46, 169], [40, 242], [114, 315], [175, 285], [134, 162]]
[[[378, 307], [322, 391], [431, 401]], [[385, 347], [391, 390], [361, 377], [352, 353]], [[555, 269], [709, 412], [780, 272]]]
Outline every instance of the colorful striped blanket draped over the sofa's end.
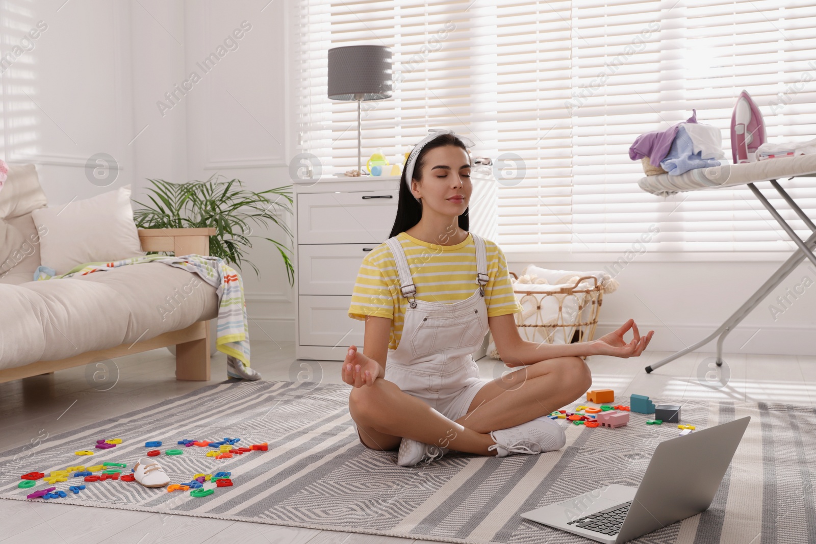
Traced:
[[113, 263], [84, 263], [69, 272], [56, 276], [53, 268], [38, 267], [34, 272], [34, 281], [55, 280], [71, 276], [86, 276], [92, 272], [104, 272], [127, 264], [165, 263], [171, 267], [184, 268], [201, 276], [202, 280], [215, 287], [219, 297], [218, 333], [215, 345], [219, 352], [226, 353], [241, 360], [244, 365], [250, 365], [250, 334], [246, 318], [246, 302], [244, 301], [244, 286], [238, 272], [227, 265], [219, 257], [205, 257], [190, 254], [180, 257], [165, 257], [163, 255], [149, 255], [131, 257]]

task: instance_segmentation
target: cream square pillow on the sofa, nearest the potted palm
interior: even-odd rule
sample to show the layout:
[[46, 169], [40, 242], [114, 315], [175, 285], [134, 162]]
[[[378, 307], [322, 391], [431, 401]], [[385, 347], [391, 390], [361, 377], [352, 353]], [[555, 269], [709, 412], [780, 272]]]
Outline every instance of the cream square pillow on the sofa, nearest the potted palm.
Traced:
[[78, 264], [118, 261], [144, 255], [133, 222], [131, 186], [62, 206], [33, 210], [40, 238], [40, 260], [57, 274]]

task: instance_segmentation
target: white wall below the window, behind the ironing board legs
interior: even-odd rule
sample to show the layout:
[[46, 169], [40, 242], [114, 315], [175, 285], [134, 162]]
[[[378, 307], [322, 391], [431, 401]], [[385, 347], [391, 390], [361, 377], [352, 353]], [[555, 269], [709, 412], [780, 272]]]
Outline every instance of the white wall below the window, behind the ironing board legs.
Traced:
[[[632, 317], [641, 334], [654, 330], [650, 349], [676, 352], [712, 334], [765, 283], [783, 260], [659, 263], [635, 258], [622, 269], [606, 268], [614, 261], [612, 258], [534, 264], [556, 270], [606, 268], [616, 273], [620, 270], [615, 276], [619, 289], [603, 299], [596, 338], [617, 329]], [[528, 264], [529, 260], [514, 260], [508, 255], [508, 267], [517, 274]], [[779, 303], [779, 296], [787, 296], [789, 302]], [[772, 304], [782, 312], [771, 312]], [[724, 351], [813, 355], [816, 353], [814, 308], [816, 267], [805, 261], [726, 337]], [[715, 350], [716, 338], [698, 351]]]

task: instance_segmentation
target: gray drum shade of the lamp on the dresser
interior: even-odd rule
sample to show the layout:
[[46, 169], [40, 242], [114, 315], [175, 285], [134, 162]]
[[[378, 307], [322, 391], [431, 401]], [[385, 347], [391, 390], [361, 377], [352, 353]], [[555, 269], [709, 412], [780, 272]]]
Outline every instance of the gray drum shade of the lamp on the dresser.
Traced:
[[332, 100], [384, 100], [391, 97], [391, 50], [384, 46], [345, 46], [329, 50], [328, 95]]

